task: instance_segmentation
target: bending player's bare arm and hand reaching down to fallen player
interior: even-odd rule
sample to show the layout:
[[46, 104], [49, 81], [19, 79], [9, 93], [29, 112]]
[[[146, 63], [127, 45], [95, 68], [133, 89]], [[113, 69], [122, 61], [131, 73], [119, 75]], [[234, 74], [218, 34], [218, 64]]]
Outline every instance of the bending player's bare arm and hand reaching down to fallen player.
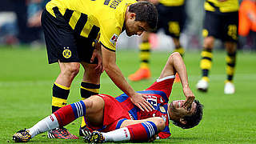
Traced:
[[109, 75], [111, 80], [116, 86], [118, 86], [120, 90], [122, 90], [131, 98], [131, 101], [134, 103], [135, 106], [138, 106], [138, 108], [143, 111], [151, 111], [152, 109], [154, 109], [153, 106], [151, 106], [150, 103], [146, 101], [147, 96], [136, 93], [126, 81], [126, 78], [123, 76], [122, 71], [116, 64], [116, 54], [114, 51], [107, 50], [104, 46], [102, 46], [102, 60], [106, 74]]

